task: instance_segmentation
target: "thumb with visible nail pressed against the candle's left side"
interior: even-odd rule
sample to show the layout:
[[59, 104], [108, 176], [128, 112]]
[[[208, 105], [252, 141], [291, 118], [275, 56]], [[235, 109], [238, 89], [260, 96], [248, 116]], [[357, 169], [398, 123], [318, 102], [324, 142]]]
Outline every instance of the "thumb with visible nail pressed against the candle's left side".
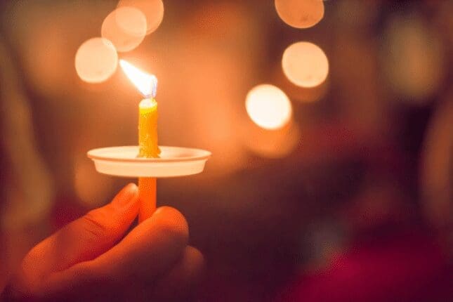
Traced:
[[23, 279], [33, 284], [50, 273], [96, 258], [124, 236], [137, 214], [138, 190], [131, 183], [110, 204], [88, 212], [37, 244], [22, 261]]

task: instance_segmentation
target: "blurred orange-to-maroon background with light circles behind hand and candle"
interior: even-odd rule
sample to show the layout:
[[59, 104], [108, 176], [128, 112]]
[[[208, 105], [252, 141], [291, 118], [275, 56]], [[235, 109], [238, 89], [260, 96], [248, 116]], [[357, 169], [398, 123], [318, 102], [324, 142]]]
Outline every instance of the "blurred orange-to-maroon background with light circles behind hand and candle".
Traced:
[[206, 258], [198, 301], [451, 301], [452, 15], [447, 0], [1, 1], [0, 289], [135, 181], [86, 158], [136, 144], [123, 58], [159, 79], [159, 143], [214, 154], [158, 189]]

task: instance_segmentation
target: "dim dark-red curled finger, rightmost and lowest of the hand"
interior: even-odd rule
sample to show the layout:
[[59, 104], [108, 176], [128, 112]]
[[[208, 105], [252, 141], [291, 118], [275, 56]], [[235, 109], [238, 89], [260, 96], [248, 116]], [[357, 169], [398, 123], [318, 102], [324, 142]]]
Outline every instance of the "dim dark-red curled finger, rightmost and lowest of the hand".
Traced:
[[204, 258], [195, 247], [185, 247], [184, 254], [155, 286], [156, 301], [187, 301], [195, 292], [202, 275]]

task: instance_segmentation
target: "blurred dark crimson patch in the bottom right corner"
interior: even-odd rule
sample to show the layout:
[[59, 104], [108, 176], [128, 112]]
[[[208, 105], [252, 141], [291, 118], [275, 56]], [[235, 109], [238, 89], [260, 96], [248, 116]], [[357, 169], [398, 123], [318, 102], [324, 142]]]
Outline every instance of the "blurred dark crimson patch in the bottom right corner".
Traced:
[[427, 235], [357, 242], [327, 270], [301, 275], [277, 301], [453, 301], [453, 273]]

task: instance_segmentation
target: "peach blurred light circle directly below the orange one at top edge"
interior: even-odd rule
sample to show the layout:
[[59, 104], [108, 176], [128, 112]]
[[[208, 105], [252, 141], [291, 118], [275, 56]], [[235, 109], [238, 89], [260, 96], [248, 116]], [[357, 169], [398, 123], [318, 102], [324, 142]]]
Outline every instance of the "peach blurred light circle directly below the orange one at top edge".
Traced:
[[322, 84], [327, 78], [329, 60], [319, 46], [297, 42], [284, 51], [282, 68], [291, 83], [310, 88]]

